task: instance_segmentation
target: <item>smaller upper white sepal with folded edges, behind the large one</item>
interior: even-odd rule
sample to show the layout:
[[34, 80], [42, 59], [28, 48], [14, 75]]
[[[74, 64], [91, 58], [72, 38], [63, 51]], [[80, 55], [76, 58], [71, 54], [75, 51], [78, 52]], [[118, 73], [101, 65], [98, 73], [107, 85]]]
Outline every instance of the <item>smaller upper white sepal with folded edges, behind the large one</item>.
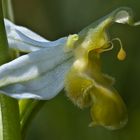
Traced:
[[56, 41], [49, 41], [25, 27], [13, 24], [7, 19], [4, 22], [9, 47], [21, 52], [32, 52], [50, 46], [57, 46], [64, 44], [67, 39], [67, 37], [64, 37]]

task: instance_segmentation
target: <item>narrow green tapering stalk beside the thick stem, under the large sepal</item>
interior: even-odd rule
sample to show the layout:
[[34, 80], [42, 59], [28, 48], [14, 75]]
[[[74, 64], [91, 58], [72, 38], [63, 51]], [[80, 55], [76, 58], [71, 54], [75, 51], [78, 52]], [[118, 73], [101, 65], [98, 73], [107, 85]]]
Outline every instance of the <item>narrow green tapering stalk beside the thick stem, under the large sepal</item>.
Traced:
[[20, 123], [21, 123], [21, 134], [24, 139], [33, 118], [36, 116], [38, 111], [42, 108], [46, 101], [38, 100], [20, 100]]

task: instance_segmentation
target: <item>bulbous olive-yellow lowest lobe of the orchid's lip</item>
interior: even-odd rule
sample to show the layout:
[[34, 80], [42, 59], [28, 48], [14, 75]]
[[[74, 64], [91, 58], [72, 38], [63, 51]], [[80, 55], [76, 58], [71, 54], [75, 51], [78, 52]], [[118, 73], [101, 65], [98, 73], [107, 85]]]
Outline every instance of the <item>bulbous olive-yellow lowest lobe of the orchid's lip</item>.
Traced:
[[122, 98], [115, 89], [98, 86], [91, 90], [93, 104], [90, 126], [100, 125], [111, 130], [122, 128], [128, 120]]

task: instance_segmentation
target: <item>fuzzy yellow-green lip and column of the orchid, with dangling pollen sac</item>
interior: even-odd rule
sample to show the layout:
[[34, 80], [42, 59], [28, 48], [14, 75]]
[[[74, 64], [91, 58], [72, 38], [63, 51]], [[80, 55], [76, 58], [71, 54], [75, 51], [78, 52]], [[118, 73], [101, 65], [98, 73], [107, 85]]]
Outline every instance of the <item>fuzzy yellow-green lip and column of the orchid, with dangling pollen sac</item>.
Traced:
[[78, 35], [69, 36], [67, 50], [74, 52], [75, 60], [65, 77], [67, 96], [80, 108], [90, 107], [90, 126], [110, 130], [122, 128], [127, 122], [127, 109], [121, 96], [113, 88], [114, 80], [101, 70], [100, 55], [113, 49], [113, 41], [120, 43], [117, 54], [124, 60], [126, 53], [118, 38], [110, 40], [106, 29], [113, 23], [130, 23], [129, 9], [117, 9], [105, 18], [85, 28]]

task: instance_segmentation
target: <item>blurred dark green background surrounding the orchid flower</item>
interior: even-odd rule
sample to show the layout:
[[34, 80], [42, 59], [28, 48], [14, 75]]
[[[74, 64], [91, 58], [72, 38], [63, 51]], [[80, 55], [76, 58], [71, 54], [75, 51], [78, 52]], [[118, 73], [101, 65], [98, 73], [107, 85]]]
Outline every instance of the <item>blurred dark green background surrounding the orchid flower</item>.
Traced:
[[[13, 0], [16, 23], [49, 40], [77, 33], [120, 6], [131, 7], [140, 20], [139, 0]], [[42, 108], [26, 140], [140, 139], [140, 27], [116, 24], [109, 32], [111, 38], [122, 40], [127, 51], [124, 62], [117, 61], [117, 48], [103, 56], [103, 69], [116, 78], [115, 86], [127, 105], [127, 126], [117, 131], [89, 128], [89, 110], [78, 109], [62, 92]]]

